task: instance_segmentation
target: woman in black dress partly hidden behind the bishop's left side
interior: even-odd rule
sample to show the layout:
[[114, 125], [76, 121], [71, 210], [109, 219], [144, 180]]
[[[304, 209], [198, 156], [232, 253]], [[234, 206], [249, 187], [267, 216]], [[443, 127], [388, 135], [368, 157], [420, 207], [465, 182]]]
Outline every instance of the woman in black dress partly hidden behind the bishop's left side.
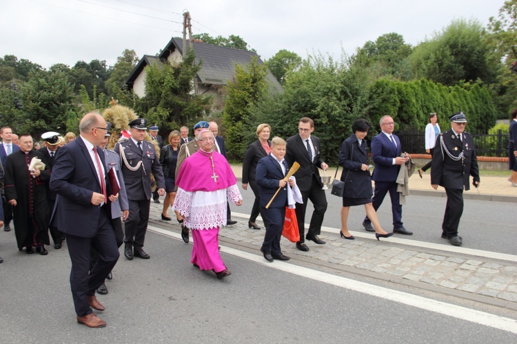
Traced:
[[[165, 200], [163, 200], [163, 210], [161, 211], [161, 219], [170, 221], [167, 216], [169, 206], [172, 206], [176, 193], [174, 192], [174, 173], [176, 171], [176, 162], [178, 161], [179, 152], [179, 131], [173, 130], [169, 134], [169, 144], [161, 149], [160, 164], [163, 169], [163, 177], [165, 177]], [[183, 222], [181, 216], [176, 214], [179, 223]]]

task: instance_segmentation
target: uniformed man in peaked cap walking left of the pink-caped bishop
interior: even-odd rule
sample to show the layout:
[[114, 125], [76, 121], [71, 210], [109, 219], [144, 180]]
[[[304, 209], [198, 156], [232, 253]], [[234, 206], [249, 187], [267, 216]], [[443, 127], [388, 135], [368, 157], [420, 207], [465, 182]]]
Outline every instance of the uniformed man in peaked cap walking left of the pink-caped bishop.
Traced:
[[[165, 195], [165, 178], [154, 145], [143, 140], [147, 129], [147, 120], [136, 118], [130, 125], [131, 137], [116, 144], [114, 151], [121, 155], [121, 169], [124, 176], [125, 191], [128, 194], [130, 215], [124, 226], [124, 256], [149, 259], [143, 250], [145, 232], [148, 228], [151, 173], [154, 175], [158, 193]], [[133, 252], [134, 249], [134, 252]]]

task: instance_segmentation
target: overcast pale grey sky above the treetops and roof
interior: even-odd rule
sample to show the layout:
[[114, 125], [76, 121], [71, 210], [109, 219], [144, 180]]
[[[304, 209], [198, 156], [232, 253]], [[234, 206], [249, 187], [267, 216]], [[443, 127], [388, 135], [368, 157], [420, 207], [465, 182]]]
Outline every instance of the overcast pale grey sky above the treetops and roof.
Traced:
[[286, 49], [341, 56], [389, 32], [416, 45], [454, 19], [486, 25], [504, 0], [0, 0], [0, 56], [45, 68], [77, 61], [116, 62], [123, 50], [154, 55], [182, 36], [188, 10], [194, 34], [241, 36], [262, 59]]

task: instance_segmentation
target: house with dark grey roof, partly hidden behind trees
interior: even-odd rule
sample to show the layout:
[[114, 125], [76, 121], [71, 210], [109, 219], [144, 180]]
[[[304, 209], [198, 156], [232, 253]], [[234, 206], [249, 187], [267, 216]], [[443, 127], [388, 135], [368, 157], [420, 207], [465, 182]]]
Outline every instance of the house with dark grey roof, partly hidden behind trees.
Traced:
[[[139, 97], [145, 96], [145, 67], [153, 63], [180, 63], [182, 60], [183, 40], [172, 38], [165, 49], [158, 56], [144, 55], [138, 65], [134, 67], [125, 81], [129, 89]], [[197, 94], [214, 96], [214, 110], [221, 110], [223, 99], [221, 89], [235, 75], [235, 65], [247, 65], [256, 56], [259, 63], [263, 63], [256, 52], [238, 50], [230, 47], [211, 45], [198, 40], [192, 41], [196, 63], [202, 61], [201, 69], [196, 75]], [[281, 92], [282, 87], [278, 80], [267, 71], [266, 81], [274, 92]]]

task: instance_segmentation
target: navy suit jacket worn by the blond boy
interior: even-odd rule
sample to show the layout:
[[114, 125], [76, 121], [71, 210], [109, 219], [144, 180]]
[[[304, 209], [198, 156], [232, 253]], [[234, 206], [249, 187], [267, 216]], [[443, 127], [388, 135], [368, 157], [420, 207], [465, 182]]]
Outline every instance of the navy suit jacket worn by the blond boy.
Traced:
[[[285, 171], [289, 171], [287, 168], [287, 162], [284, 160]], [[276, 161], [273, 155], [267, 155], [256, 164], [256, 184], [259, 186], [259, 206], [267, 206], [270, 202], [276, 190], [278, 190], [278, 180], [285, 177], [280, 165]], [[276, 195], [274, 201], [270, 205], [270, 208], [282, 208], [287, 206], [287, 186], [284, 186], [278, 195]]]

